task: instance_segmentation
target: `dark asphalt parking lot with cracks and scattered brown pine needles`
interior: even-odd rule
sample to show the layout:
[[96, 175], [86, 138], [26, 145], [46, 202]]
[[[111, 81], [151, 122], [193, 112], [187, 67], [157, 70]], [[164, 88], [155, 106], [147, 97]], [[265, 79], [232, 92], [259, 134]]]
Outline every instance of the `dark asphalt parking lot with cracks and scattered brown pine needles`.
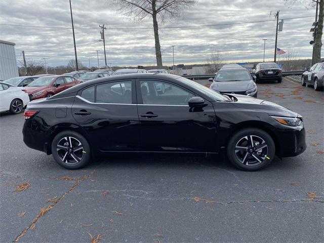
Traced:
[[89, 232], [102, 242], [324, 242], [323, 92], [286, 78], [258, 87], [304, 116], [308, 146], [259, 172], [166, 155], [68, 171], [25, 146], [23, 114], [1, 114], [0, 241], [90, 242]]

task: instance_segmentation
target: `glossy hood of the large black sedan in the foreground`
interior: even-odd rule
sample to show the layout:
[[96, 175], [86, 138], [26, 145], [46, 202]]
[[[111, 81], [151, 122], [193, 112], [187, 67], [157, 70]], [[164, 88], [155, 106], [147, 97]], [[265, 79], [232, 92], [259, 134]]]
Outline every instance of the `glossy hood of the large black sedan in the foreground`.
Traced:
[[233, 97], [237, 100], [233, 101], [232, 104], [239, 108], [257, 110], [275, 116], [301, 117], [295, 111], [271, 101], [260, 100], [246, 95], [233, 95]]

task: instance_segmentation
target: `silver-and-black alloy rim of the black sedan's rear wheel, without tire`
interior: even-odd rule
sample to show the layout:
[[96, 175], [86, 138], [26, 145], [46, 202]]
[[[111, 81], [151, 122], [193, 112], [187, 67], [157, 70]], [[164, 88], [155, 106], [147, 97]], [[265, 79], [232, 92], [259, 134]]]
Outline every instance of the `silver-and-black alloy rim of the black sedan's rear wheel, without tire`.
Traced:
[[74, 137], [64, 137], [56, 145], [59, 158], [66, 164], [79, 163], [84, 156], [82, 143]]

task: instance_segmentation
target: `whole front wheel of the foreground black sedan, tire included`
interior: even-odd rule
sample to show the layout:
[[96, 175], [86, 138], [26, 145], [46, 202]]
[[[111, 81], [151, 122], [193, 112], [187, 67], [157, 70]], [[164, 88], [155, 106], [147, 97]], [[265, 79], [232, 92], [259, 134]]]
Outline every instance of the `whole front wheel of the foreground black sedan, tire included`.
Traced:
[[[253, 147], [251, 142], [253, 140]], [[264, 146], [258, 151], [256, 147]], [[257, 171], [269, 165], [275, 155], [275, 145], [271, 136], [261, 129], [247, 128], [237, 131], [227, 145], [227, 157], [238, 169]]]

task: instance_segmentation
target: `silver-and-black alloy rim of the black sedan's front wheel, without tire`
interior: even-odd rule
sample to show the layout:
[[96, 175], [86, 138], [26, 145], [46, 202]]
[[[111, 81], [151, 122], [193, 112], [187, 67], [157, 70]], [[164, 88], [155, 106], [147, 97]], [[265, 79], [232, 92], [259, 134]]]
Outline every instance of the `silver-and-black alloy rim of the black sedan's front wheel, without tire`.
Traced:
[[235, 156], [244, 165], [256, 166], [267, 158], [268, 145], [256, 135], [241, 138], [235, 145]]

